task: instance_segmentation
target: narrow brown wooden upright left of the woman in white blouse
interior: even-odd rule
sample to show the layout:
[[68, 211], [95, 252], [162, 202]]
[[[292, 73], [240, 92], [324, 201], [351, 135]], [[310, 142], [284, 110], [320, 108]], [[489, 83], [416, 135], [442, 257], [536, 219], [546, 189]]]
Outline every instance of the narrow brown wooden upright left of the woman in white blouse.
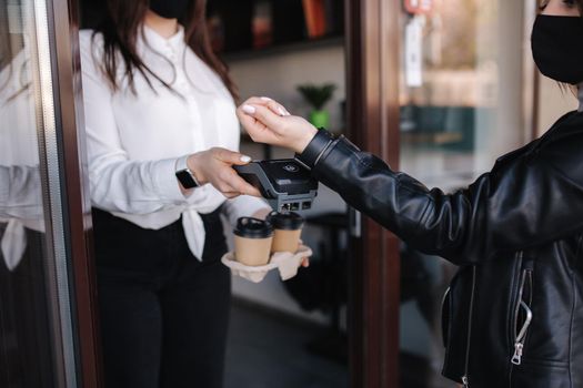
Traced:
[[78, 384], [102, 387], [77, 0], [47, 2]]

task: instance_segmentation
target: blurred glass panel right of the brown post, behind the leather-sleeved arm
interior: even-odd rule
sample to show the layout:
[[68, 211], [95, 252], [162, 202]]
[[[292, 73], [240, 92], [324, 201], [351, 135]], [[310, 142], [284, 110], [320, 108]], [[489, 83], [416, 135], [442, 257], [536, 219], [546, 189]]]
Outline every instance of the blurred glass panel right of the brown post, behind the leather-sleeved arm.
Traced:
[[[405, 2], [420, 7], [401, 18], [401, 170], [453, 192], [529, 140], [534, 1]], [[440, 313], [456, 268], [405, 244], [401, 256], [402, 386], [454, 387]]]

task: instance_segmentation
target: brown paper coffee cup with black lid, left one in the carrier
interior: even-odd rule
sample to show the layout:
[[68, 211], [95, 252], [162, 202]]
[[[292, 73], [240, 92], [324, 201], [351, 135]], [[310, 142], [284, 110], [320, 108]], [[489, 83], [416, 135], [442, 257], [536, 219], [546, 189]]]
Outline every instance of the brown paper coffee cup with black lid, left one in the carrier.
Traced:
[[234, 233], [234, 258], [244, 265], [267, 265], [270, 259], [273, 227], [270, 223], [241, 217]]

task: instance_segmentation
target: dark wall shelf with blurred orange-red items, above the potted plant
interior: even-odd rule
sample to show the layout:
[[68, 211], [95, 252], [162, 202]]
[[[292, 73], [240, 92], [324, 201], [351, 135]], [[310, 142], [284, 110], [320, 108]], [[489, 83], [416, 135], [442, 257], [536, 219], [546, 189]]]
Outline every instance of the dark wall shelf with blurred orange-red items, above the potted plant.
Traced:
[[213, 50], [227, 62], [344, 43], [338, 0], [209, 0]]

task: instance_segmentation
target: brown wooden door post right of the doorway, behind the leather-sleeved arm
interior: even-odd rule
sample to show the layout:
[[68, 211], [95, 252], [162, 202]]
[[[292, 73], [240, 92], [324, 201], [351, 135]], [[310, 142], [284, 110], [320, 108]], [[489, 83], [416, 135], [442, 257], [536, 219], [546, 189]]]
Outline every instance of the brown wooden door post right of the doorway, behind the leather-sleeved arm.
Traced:
[[[350, 139], [399, 167], [401, 1], [345, 0]], [[399, 238], [363, 217], [351, 238], [349, 347], [353, 388], [399, 386]]]

